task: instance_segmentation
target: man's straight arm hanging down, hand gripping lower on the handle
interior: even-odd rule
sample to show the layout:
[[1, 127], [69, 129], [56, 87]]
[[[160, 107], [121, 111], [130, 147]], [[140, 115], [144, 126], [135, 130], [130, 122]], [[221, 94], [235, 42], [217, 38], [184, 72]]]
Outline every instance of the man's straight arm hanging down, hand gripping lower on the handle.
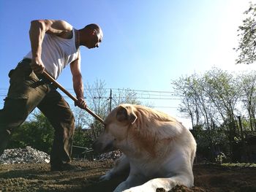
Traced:
[[80, 72], [80, 53], [78, 55], [78, 59], [72, 61], [70, 64], [70, 69], [72, 73], [73, 88], [78, 99], [78, 102], [75, 104], [78, 105], [78, 107], [85, 109], [86, 101], [84, 100], [83, 96], [83, 80]]

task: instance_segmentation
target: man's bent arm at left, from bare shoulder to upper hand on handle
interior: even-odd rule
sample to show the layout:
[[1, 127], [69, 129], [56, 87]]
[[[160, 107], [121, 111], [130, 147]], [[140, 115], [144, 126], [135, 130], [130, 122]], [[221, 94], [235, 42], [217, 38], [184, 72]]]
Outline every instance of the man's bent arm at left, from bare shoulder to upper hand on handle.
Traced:
[[32, 20], [29, 30], [31, 42], [32, 62], [31, 68], [35, 73], [41, 74], [45, 66], [42, 64], [42, 40], [47, 34], [55, 34], [59, 37], [68, 37], [72, 33], [72, 26], [64, 20]]

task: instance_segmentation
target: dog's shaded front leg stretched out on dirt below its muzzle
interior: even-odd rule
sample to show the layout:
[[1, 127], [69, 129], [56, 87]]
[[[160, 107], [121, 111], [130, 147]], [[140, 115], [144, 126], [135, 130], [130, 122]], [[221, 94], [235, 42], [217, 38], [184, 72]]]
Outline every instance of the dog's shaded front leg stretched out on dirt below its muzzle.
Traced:
[[121, 155], [115, 162], [113, 169], [110, 169], [105, 175], [99, 177], [99, 180], [110, 180], [115, 175], [123, 173], [126, 169], [129, 169], [129, 160], [126, 155]]

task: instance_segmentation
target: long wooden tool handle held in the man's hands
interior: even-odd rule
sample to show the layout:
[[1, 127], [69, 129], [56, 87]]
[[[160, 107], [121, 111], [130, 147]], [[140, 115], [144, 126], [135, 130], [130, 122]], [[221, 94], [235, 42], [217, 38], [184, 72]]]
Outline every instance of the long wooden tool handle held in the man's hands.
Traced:
[[[73, 96], [71, 93], [69, 93], [69, 91], [67, 91], [64, 87], [61, 86], [61, 84], [59, 84], [59, 82], [57, 82], [56, 80], [53, 79], [53, 77], [50, 76], [50, 74], [48, 74], [48, 72], [42, 72], [42, 75], [45, 76], [48, 80], [50, 80], [50, 82], [53, 83], [53, 85], [55, 85], [57, 88], [59, 88], [63, 93], [65, 93], [67, 96], [69, 96], [70, 99], [72, 99], [73, 101], [77, 102], [78, 99]], [[96, 118], [97, 120], [99, 120], [100, 123], [104, 124], [104, 120], [102, 120], [102, 118], [100, 118], [98, 115], [96, 115], [94, 112], [92, 112], [88, 107], [84, 108], [83, 110], [86, 110], [87, 112], [89, 112], [94, 118]]]

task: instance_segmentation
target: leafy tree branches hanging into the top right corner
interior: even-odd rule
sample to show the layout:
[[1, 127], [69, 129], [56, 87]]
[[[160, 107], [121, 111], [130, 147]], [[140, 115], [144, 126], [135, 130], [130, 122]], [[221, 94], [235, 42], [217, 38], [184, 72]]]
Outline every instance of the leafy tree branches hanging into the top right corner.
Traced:
[[256, 4], [250, 3], [249, 9], [244, 14], [246, 19], [243, 24], [238, 27], [238, 59], [236, 64], [252, 64], [256, 60]]

